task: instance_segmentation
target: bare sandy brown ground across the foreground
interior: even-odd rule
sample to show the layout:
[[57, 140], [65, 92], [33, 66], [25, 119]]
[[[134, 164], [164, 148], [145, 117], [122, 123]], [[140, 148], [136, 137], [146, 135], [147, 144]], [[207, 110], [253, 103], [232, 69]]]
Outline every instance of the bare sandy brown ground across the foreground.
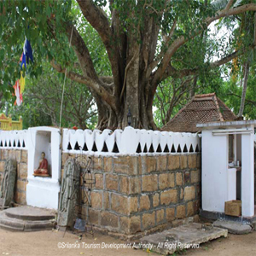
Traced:
[[[83, 244], [84, 242], [84, 244]], [[0, 230], [0, 255], [31, 256], [31, 255], [86, 255], [86, 256], [114, 256], [114, 255], [134, 255], [134, 256], [156, 256], [159, 254], [147, 253], [143, 250], [135, 249], [107, 249], [107, 248], [84, 248], [90, 244], [122, 244], [109, 236], [96, 234], [83, 237], [79, 241], [78, 236], [66, 233], [63, 237], [61, 231], [39, 231], [39, 232], [11, 232]], [[77, 244], [79, 248], [58, 248], [64, 244]], [[83, 247], [84, 246], [84, 247]], [[256, 255], [256, 231], [248, 235], [230, 235], [227, 238], [207, 242], [198, 249], [190, 249], [182, 253], [183, 255]]]

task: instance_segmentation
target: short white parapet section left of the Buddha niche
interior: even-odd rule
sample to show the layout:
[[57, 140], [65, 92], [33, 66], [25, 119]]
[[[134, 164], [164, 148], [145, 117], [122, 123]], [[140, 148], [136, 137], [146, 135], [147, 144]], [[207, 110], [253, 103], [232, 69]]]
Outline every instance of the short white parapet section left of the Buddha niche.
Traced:
[[0, 148], [26, 149], [27, 130], [0, 131]]

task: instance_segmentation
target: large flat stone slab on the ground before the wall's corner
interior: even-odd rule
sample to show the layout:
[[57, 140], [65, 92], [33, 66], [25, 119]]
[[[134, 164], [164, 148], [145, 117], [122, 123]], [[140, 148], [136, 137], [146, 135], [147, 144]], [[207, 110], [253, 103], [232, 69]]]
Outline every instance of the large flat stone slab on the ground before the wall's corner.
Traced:
[[228, 236], [228, 231], [213, 227], [212, 224], [191, 223], [144, 236], [140, 242], [142, 247], [149, 247], [155, 253], [167, 255], [183, 249], [196, 249], [201, 243], [221, 236]]

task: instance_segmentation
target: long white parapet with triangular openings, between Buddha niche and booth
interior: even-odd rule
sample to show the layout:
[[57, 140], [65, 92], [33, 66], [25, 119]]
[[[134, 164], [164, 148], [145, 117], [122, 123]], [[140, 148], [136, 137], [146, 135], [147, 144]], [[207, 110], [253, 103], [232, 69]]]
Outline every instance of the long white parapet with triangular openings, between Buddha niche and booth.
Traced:
[[143, 154], [195, 153], [201, 151], [201, 135], [185, 132], [63, 129], [62, 149], [69, 153]]

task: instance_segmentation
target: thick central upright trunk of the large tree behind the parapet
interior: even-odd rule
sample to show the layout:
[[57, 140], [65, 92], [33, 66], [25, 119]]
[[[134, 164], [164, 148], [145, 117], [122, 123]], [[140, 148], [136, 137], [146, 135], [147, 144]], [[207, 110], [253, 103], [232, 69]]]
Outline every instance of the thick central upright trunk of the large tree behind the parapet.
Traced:
[[[116, 27], [114, 20], [113, 27]], [[117, 41], [122, 57], [117, 58], [119, 79], [113, 79], [115, 90], [112, 108], [101, 98], [96, 100], [99, 119], [97, 129], [124, 129], [128, 125], [127, 113], [131, 112], [131, 126], [139, 129], [157, 129], [154, 124], [151, 94], [151, 77], [147, 77], [148, 65], [154, 60], [157, 35], [160, 27], [153, 18], [145, 20], [143, 31], [137, 27], [130, 27], [126, 37]], [[137, 31], [134, 33], [134, 31]], [[120, 45], [119, 45], [120, 44]], [[124, 62], [125, 56], [125, 62]], [[106, 122], [105, 120], [108, 120]]]

